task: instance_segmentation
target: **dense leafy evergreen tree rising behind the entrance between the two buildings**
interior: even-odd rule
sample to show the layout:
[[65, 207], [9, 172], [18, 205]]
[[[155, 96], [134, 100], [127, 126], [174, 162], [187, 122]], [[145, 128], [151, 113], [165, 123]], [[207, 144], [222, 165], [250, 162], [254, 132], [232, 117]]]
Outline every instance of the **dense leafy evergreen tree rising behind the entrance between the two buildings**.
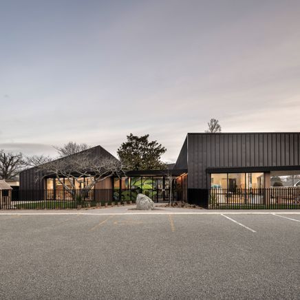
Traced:
[[164, 164], [160, 157], [167, 149], [156, 140], [149, 142], [149, 134], [145, 136], [127, 136], [127, 142], [123, 142], [117, 153], [122, 166], [128, 170], [158, 170]]

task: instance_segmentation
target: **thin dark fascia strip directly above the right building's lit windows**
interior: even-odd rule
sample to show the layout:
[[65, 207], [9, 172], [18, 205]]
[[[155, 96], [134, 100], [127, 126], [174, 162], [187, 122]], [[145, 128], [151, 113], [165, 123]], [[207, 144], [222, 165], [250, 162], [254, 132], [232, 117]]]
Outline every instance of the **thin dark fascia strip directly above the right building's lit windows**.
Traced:
[[281, 166], [281, 167], [234, 167], [234, 168], [207, 168], [207, 173], [255, 173], [271, 171], [294, 171], [299, 170], [300, 166]]

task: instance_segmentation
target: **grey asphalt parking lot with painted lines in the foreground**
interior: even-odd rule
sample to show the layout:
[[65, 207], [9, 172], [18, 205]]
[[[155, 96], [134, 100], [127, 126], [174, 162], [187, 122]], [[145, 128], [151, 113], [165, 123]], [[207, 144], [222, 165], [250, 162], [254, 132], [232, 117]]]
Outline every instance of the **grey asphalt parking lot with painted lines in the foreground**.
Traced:
[[300, 299], [300, 215], [0, 215], [1, 299]]

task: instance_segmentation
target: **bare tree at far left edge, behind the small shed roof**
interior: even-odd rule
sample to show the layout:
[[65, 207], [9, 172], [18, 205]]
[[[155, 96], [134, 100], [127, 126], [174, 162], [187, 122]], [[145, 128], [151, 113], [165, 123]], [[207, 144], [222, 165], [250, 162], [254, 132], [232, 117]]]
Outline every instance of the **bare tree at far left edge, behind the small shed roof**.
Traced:
[[11, 179], [18, 175], [26, 167], [22, 153], [5, 153], [0, 150], [0, 176], [3, 179]]

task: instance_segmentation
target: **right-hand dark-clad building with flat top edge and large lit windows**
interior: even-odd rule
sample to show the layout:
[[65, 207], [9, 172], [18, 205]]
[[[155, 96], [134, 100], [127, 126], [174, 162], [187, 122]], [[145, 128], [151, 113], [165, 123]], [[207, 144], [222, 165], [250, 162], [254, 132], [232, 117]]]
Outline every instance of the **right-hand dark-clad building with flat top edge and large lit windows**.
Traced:
[[175, 169], [186, 169], [188, 197], [269, 188], [271, 178], [300, 174], [300, 133], [188, 133]]

